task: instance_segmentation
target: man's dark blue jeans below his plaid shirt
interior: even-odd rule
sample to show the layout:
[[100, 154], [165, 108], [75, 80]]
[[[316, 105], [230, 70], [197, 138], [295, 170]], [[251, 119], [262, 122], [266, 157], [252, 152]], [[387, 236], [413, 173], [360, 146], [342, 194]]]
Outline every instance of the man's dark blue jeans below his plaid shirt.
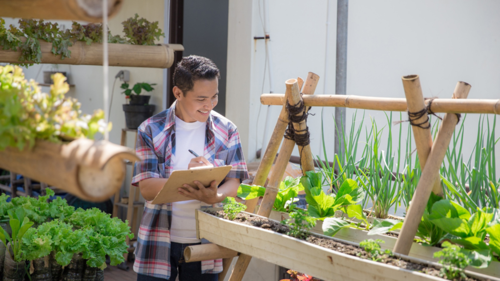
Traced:
[[[201, 243], [175, 243], [170, 242], [170, 279], [175, 281], [177, 274], [179, 281], [217, 281], [218, 274], [201, 274], [201, 261], [185, 262], [184, 249], [187, 246], [199, 245]], [[164, 281], [163, 278], [137, 274], [137, 281]]]

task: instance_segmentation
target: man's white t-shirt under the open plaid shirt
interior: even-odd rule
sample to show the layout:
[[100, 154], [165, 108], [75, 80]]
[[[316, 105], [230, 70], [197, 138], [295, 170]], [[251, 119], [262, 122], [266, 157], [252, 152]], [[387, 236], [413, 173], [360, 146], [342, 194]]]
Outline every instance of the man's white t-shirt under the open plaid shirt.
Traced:
[[[185, 170], [194, 156], [188, 149], [202, 156], [205, 146], [206, 123], [186, 123], [175, 116], [175, 153], [173, 169]], [[194, 210], [201, 207], [201, 201], [188, 200], [172, 203], [170, 241], [177, 243], [198, 243], [196, 239], [196, 219]]]

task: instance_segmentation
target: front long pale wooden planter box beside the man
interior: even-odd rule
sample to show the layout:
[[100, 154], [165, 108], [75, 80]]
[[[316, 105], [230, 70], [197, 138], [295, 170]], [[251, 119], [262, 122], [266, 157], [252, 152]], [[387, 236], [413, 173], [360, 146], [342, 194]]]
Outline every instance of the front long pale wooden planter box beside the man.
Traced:
[[[196, 210], [196, 233], [198, 238], [205, 238], [215, 244], [324, 280], [443, 280], [424, 273], [340, 253], [271, 230], [226, 220], [200, 209]], [[355, 244], [338, 238], [316, 235]], [[409, 261], [439, 267], [437, 263], [405, 255], [399, 256]], [[466, 273], [477, 279], [489, 278], [500, 281], [498, 278], [468, 270]]]

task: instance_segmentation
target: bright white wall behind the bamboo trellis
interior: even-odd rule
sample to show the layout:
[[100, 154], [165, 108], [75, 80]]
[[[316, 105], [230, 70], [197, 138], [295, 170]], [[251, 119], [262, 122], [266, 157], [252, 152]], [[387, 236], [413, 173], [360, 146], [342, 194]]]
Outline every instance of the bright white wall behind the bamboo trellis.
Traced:
[[[236, 4], [238, 1], [230, 1]], [[260, 3], [259, 3], [260, 2]], [[336, 1], [330, 1], [328, 60], [325, 61], [326, 10], [327, 0], [271, 0], [269, 2], [270, 38], [272, 44], [274, 92], [284, 93], [284, 81], [297, 76], [305, 77], [308, 71], [320, 76], [316, 94], [323, 94], [324, 79], [327, 79], [327, 94], [335, 92], [335, 41], [336, 41]], [[265, 106], [260, 107], [259, 96], [269, 91], [267, 74], [264, 78], [265, 48], [263, 40], [253, 36], [263, 36], [262, 1], [253, 0], [251, 13], [252, 34], [246, 38], [251, 46], [251, 63], [231, 65], [228, 73], [246, 75], [251, 70], [249, 115], [241, 116], [233, 110], [227, 117], [236, 118], [241, 124], [240, 133], [248, 135], [242, 140], [247, 160], [255, 158], [256, 149], [261, 147], [265, 118]], [[243, 5], [243, 4], [239, 4]], [[246, 5], [246, 3], [245, 3]], [[259, 11], [260, 5], [260, 11]], [[401, 76], [419, 74], [425, 97], [449, 98], [457, 81], [472, 85], [469, 98], [500, 98], [500, 18], [496, 11], [500, 2], [480, 1], [349, 1], [348, 43], [347, 43], [347, 94], [383, 97], [404, 97]], [[239, 20], [239, 18], [238, 18]], [[229, 18], [229, 26], [245, 29], [247, 26], [235, 25]], [[234, 31], [233, 31], [234, 32]], [[228, 36], [229, 44], [236, 40]], [[234, 59], [228, 52], [228, 61]], [[324, 75], [325, 64], [328, 67]], [[239, 77], [238, 75], [234, 74]], [[228, 79], [228, 85], [235, 81]], [[239, 80], [238, 80], [239, 79]], [[247, 91], [246, 85], [239, 88], [228, 86], [227, 96], [235, 92]], [[227, 108], [246, 110], [246, 99], [238, 98], [227, 103]], [[312, 108], [308, 126], [311, 131], [311, 149], [319, 153], [320, 114], [319, 107]], [[272, 106], [268, 116], [268, 135], [274, 127], [280, 106]], [[353, 122], [351, 115], [355, 109], [347, 109], [347, 127]], [[235, 114], [236, 113], [236, 114]], [[333, 156], [333, 118], [334, 108], [324, 107], [324, 126], [326, 151], [331, 160]], [[362, 110], [358, 110], [360, 121]], [[394, 112], [393, 118], [398, 119]], [[407, 116], [402, 114], [403, 119]], [[489, 116], [492, 118], [492, 116]], [[364, 124], [373, 118], [379, 128], [386, 125], [384, 112], [366, 110]], [[467, 133], [464, 138], [464, 156], [468, 158], [477, 131], [478, 114], [469, 114], [465, 120]], [[246, 125], [246, 122], [248, 125]], [[369, 128], [368, 128], [369, 129]], [[395, 127], [393, 128], [395, 129]], [[403, 135], [407, 123], [403, 123]], [[246, 132], [241, 132], [246, 130]], [[384, 129], [386, 135], [387, 129]], [[396, 131], [393, 131], [394, 140]], [[500, 128], [496, 128], [496, 136]], [[363, 137], [361, 137], [363, 139]], [[363, 139], [364, 140], [364, 139]], [[246, 143], [245, 143], [246, 141]], [[386, 140], [383, 140], [384, 142]], [[362, 143], [361, 143], [362, 145]], [[384, 145], [384, 144], [382, 144]], [[497, 144], [498, 145], [498, 144]], [[414, 146], [413, 146], [414, 147]], [[295, 148], [293, 153], [298, 155]], [[496, 149], [500, 157], [500, 149]], [[497, 177], [500, 166], [497, 166]]]

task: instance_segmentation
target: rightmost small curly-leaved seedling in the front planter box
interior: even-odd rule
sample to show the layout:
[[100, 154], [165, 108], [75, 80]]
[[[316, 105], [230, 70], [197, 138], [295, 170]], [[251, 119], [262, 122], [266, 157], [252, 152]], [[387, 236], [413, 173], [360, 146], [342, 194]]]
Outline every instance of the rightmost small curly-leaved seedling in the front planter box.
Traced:
[[439, 270], [441, 277], [446, 276], [446, 279], [449, 280], [457, 277], [465, 278], [463, 270], [469, 265], [470, 259], [457, 245], [444, 241], [442, 246], [442, 250], [434, 253], [434, 257], [439, 258], [438, 262], [442, 264], [442, 268]]

